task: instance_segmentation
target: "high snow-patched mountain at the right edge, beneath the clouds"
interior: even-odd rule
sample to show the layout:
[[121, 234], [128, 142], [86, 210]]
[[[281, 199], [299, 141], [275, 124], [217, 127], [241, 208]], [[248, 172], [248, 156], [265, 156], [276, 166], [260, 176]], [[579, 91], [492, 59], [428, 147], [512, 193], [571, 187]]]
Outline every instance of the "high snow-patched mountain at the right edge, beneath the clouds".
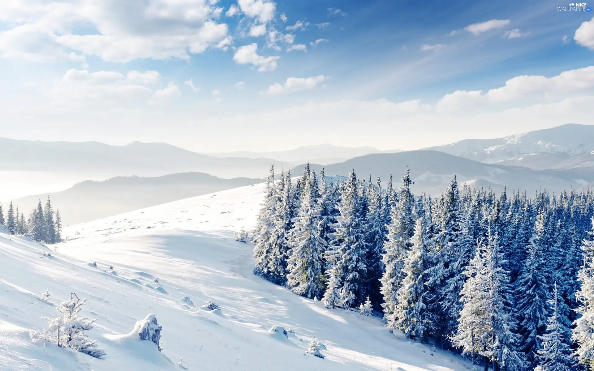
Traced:
[[570, 169], [580, 166], [594, 150], [594, 125], [568, 123], [498, 139], [465, 139], [426, 148], [484, 163], [526, 166], [532, 169]]

